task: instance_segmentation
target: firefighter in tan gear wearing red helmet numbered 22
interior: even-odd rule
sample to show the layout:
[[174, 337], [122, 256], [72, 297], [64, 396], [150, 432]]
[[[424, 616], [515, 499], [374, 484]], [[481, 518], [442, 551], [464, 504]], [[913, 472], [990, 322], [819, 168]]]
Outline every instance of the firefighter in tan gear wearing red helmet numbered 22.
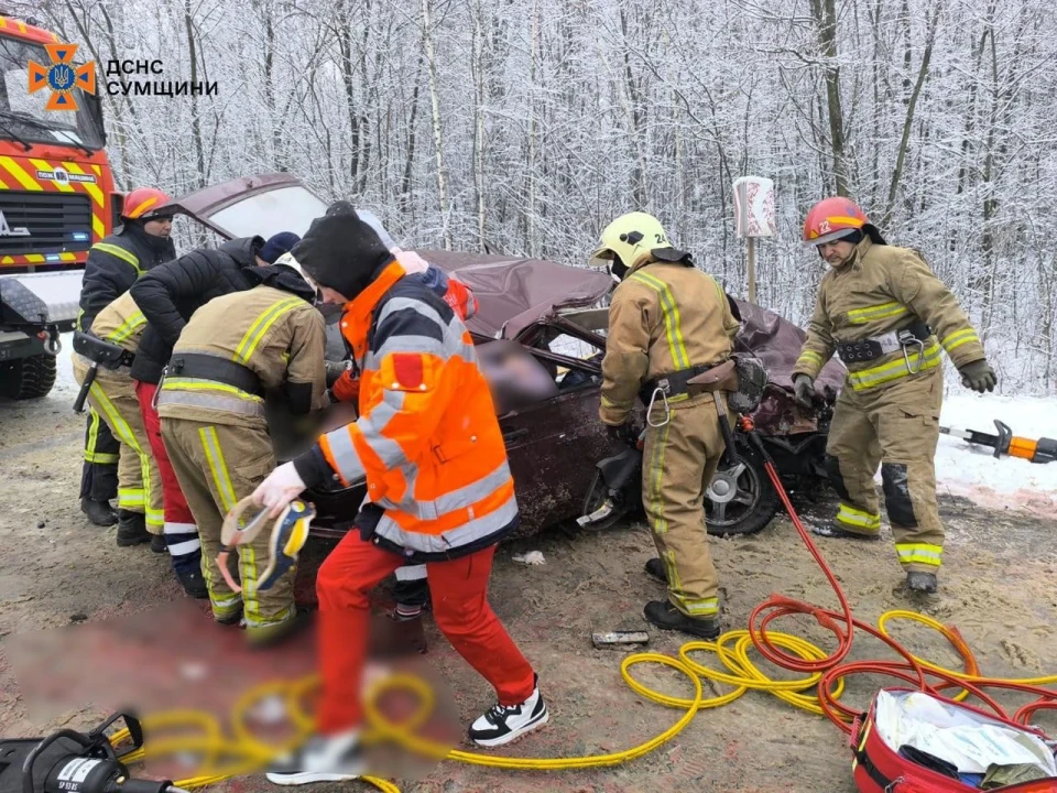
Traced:
[[995, 385], [983, 345], [957, 298], [922, 256], [885, 243], [848, 198], [826, 198], [804, 222], [804, 242], [830, 270], [793, 370], [809, 408], [814, 381], [836, 351], [848, 368], [833, 413], [826, 468], [840, 497], [831, 537], [878, 540], [873, 477], [881, 464], [895, 551], [911, 590], [935, 593], [944, 553], [934, 458], [942, 403], [944, 351], [967, 388]]

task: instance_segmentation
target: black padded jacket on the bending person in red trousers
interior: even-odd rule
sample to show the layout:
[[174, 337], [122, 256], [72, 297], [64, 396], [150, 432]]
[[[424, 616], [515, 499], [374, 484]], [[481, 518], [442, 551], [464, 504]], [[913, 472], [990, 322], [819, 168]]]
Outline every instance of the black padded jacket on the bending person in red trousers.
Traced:
[[195, 309], [214, 297], [253, 286], [246, 269], [257, 264], [261, 237], [243, 237], [216, 250], [199, 248], [145, 273], [132, 297], [149, 323], [132, 365], [132, 377], [157, 383], [173, 347]]

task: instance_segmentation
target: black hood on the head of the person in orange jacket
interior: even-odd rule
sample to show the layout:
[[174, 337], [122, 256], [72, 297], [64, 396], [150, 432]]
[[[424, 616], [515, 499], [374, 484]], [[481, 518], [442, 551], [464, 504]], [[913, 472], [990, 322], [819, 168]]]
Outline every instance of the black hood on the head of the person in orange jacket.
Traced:
[[[291, 253], [320, 286], [353, 300], [393, 261], [388, 240], [348, 202], [336, 202], [312, 226]], [[372, 218], [373, 219], [373, 218]], [[384, 233], [384, 230], [382, 230]]]

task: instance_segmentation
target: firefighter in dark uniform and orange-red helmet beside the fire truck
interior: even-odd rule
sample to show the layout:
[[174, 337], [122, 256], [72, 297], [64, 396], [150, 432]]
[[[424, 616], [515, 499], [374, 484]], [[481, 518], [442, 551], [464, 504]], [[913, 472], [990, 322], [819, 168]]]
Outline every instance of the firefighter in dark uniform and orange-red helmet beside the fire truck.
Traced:
[[[170, 238], [173, 214], [165, 208], [168, 196], [154, 187], [138, 187], [124, 196], [121, 207], [123, 224], [115, 233], [97, 242], [88, 251], [80, 291], [77, 329], [88, 330], [92, 319], [106, 306], [129, 291], [137, 278], [156, 264], [176, 257]], [[135, 476], [135, 454], [121, 450], [106, 419], [91, 409], [85, 437], [85, 463], [80, 480], [80, 508], [92, 523], [118, 523], [118, 544], [134, 545], [161, 533], [161, 525], [150, 526], [144, 519], [143, 486], [139, 481], [119, 486], [119, 457], [131, 463], [124, 466]], [[118, 511], [110, 499], [118, 497]], [[156, 546], [156, 543], [155, 543]]]

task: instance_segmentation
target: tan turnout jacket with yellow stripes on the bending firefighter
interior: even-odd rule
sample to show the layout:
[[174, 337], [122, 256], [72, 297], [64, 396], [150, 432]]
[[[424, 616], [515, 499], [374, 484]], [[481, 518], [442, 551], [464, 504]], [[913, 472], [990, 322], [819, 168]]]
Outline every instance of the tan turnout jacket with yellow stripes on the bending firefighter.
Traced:
[[[233, 361], [257, 374], [264, 390], [282, 389], [292, 412], [306, 413], [327, 404], [325, 348], [323, 315], [304, 298], [261, 284], [196, 311], [179, 335], [173, 360], [189, 352]], [[157, 414], [250, 427], [265, 423], [261, 395], [178, 372], [163, 380]]]

